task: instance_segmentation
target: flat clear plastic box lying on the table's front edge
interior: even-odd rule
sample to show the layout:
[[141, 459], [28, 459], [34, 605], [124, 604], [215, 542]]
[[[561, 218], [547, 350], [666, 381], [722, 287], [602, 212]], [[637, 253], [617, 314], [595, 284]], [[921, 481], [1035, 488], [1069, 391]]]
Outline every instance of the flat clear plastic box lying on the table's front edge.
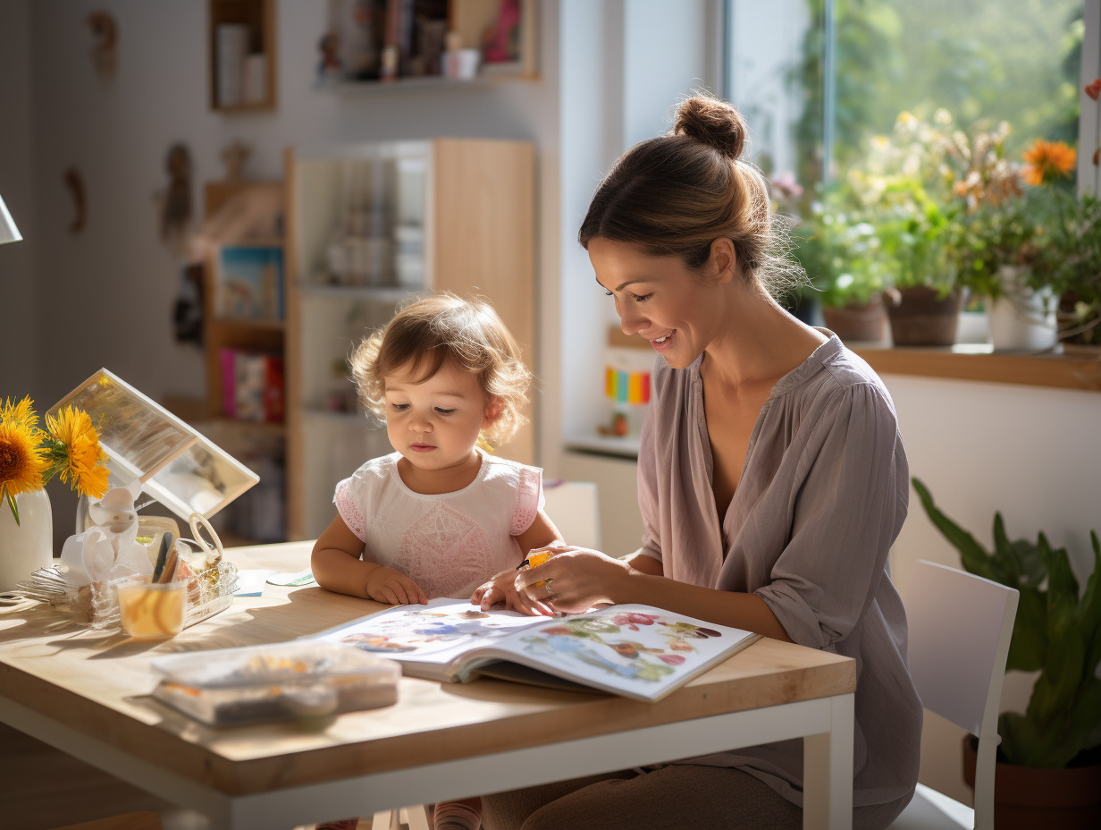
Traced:
[[397, 701], [401, 666], [341, 643], [293, 640], [153, 660], [153, 697], [211, 726], [318, 718]]

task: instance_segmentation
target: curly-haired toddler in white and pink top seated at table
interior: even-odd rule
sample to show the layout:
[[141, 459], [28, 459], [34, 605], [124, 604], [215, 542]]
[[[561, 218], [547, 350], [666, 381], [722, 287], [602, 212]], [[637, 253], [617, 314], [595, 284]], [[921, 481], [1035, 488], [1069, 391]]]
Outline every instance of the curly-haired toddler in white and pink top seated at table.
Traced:
[[[337, 515], [310, 558], [321, 588], [391, 604], [469, 597], [533, 548], [560, 542], [543, 510], [542, 471], [481, 449], [520, 427], [531, 382], [488, 303], [449, 293], [415, 302], [367, 337], [351, 365], [394, 452], [337, 484]], [[517, 595], [511, 578], [497, 584], [505, 607], [552, 613]], [[478, 798], [436, 805], [436, 830], [480, 823]]]

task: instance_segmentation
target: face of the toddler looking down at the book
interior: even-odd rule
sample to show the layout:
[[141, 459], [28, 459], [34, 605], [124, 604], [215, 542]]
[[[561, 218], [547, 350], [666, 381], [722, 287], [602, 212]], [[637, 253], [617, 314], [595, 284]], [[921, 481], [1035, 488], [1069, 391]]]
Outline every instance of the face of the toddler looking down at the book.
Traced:
[[447, 360], [427, 380], [415, 379], [408, 365], [383, 377], [391, 445], [418, 470], [469, 463], [495, 409], [478, 377]]

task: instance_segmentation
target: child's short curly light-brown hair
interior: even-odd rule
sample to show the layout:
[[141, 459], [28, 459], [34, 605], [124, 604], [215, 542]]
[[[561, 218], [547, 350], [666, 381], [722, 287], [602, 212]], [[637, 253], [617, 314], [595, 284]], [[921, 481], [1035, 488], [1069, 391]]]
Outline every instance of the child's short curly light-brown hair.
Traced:
[[363, 406], [385, 420], [386, 375], [410, 365], [413, 376], [424, 381], [446, 360], [477, 375], [486, 396], [500, 402], [500, 413], [486, 430], [490, 444], [512, 438], [527, 420], [520, 410], [527, 403], [532, 374], [520, 359], [516, 341], [482, 298], [442, 291], [414, 302], [368, 335], [350, 364]]

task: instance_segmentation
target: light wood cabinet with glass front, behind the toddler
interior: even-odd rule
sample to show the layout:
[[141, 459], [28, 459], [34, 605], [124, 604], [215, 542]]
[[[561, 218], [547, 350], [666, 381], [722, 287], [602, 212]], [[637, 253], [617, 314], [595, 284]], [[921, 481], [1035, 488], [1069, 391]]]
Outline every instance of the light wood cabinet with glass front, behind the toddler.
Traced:
[[[534, 368], [533, 155], [528, 142], [482, 139], [287, 151], [291, 539], [317, 537], [336, 483], [391, 451], [347, 358], [400, 303], [484, 297]], [[533, 435], [528, 423], [502, 453], [532, 463]]]

